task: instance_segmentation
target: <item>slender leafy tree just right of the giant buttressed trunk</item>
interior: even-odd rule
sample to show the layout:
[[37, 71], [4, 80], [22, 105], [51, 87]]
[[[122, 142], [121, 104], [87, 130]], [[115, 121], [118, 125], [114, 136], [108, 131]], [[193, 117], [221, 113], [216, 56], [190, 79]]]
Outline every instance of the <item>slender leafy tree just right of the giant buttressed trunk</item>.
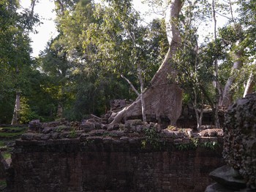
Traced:
[[197, 25], [202, 18], [198, 12], [195, 12], [197, 4], [199, 4], [198, 1], [184, 3], [184, 12], [182, 12], [181, 24], [179, 25], [181, 47], [173, 57], [173, 61], [177, 71], [176, 81], [187, 96], [187, 104], [192, 104], [195, 110], [197, 130], [199, 130], [203, 120], [203, 95], [206, 94], [203, 94], [203, 90], [205, 90], [206, 82], [209, 82], [209, 78], [205, 77], [210, 71], [206, 70], [206, 66], [203, 66], [206, 63], [200, 61]]

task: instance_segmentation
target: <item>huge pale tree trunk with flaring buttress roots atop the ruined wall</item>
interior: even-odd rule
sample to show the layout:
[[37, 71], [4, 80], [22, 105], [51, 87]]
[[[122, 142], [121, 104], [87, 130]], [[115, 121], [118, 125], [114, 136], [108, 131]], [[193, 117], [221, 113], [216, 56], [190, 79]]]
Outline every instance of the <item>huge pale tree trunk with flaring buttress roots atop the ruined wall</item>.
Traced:
[[[176, 72], [171, 64], [171, 59], [181, 44], [181, 37], [177, 28], [177, 18], [182, 5], [182, 0], [170, 1], [166, 14], [167, 37], [170, 47], [165, 60], [151, 80], [151, 87], [143, 93], [146, 115], [156, 115], [158, 121], [160, 121], [160, 116], [167, 116], [172, 125], [176, 124], [177, 119], [181, 115], [182, 104], [181, 88], [175, 83], [170, 82], [170, 78], [176, 78]], [[142, 115], [141, 94], [131, 105], [118, 112], [112, 123], [120, 123], [121, 120], [139, 115]]]

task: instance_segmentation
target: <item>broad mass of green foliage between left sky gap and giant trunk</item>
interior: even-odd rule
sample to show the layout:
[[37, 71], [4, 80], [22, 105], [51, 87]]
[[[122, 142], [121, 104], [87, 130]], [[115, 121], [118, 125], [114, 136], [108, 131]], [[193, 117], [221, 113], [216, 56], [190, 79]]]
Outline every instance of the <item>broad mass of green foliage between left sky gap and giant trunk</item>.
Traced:
[[80, 120], [105, 113], [111, 99], [135, 99], [120, 74], [138, 88], [140, 64], [145, 82], [151, 80], [168, 47], [163, 20], [140, 26], [130, 1], [56, 4], [60, 34], [37, 59], [52, 116], [59, 104], [64, 118]]

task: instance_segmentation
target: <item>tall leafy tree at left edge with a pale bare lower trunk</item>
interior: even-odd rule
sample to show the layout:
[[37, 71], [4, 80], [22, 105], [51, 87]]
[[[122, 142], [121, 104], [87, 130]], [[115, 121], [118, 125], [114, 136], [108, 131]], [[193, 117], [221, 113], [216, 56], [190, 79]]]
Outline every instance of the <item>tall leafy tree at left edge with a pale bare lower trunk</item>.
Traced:
[[[18, 12], [18, 1], [1, 1], [0, 9], [0, 45], [1, 56], [0, 64], [3, 67], [4, 78], [12, 79], [7, 83], [5, 91], [15, 92], [15, 109], [13, 110], [12, 124], [19, 123], [20, 113], [20, 94], [22, 93], [23, 83], [26, 77], [23, 73], [31, 64], [31, 47], [28, 32], [33, 30], [35, 23], [39, 23], [37, 15], [34, 15], [35, 0], [31, 1], [31, 11], [23, 9]], [[5, 82], [2, 82], [5, 83]]]

